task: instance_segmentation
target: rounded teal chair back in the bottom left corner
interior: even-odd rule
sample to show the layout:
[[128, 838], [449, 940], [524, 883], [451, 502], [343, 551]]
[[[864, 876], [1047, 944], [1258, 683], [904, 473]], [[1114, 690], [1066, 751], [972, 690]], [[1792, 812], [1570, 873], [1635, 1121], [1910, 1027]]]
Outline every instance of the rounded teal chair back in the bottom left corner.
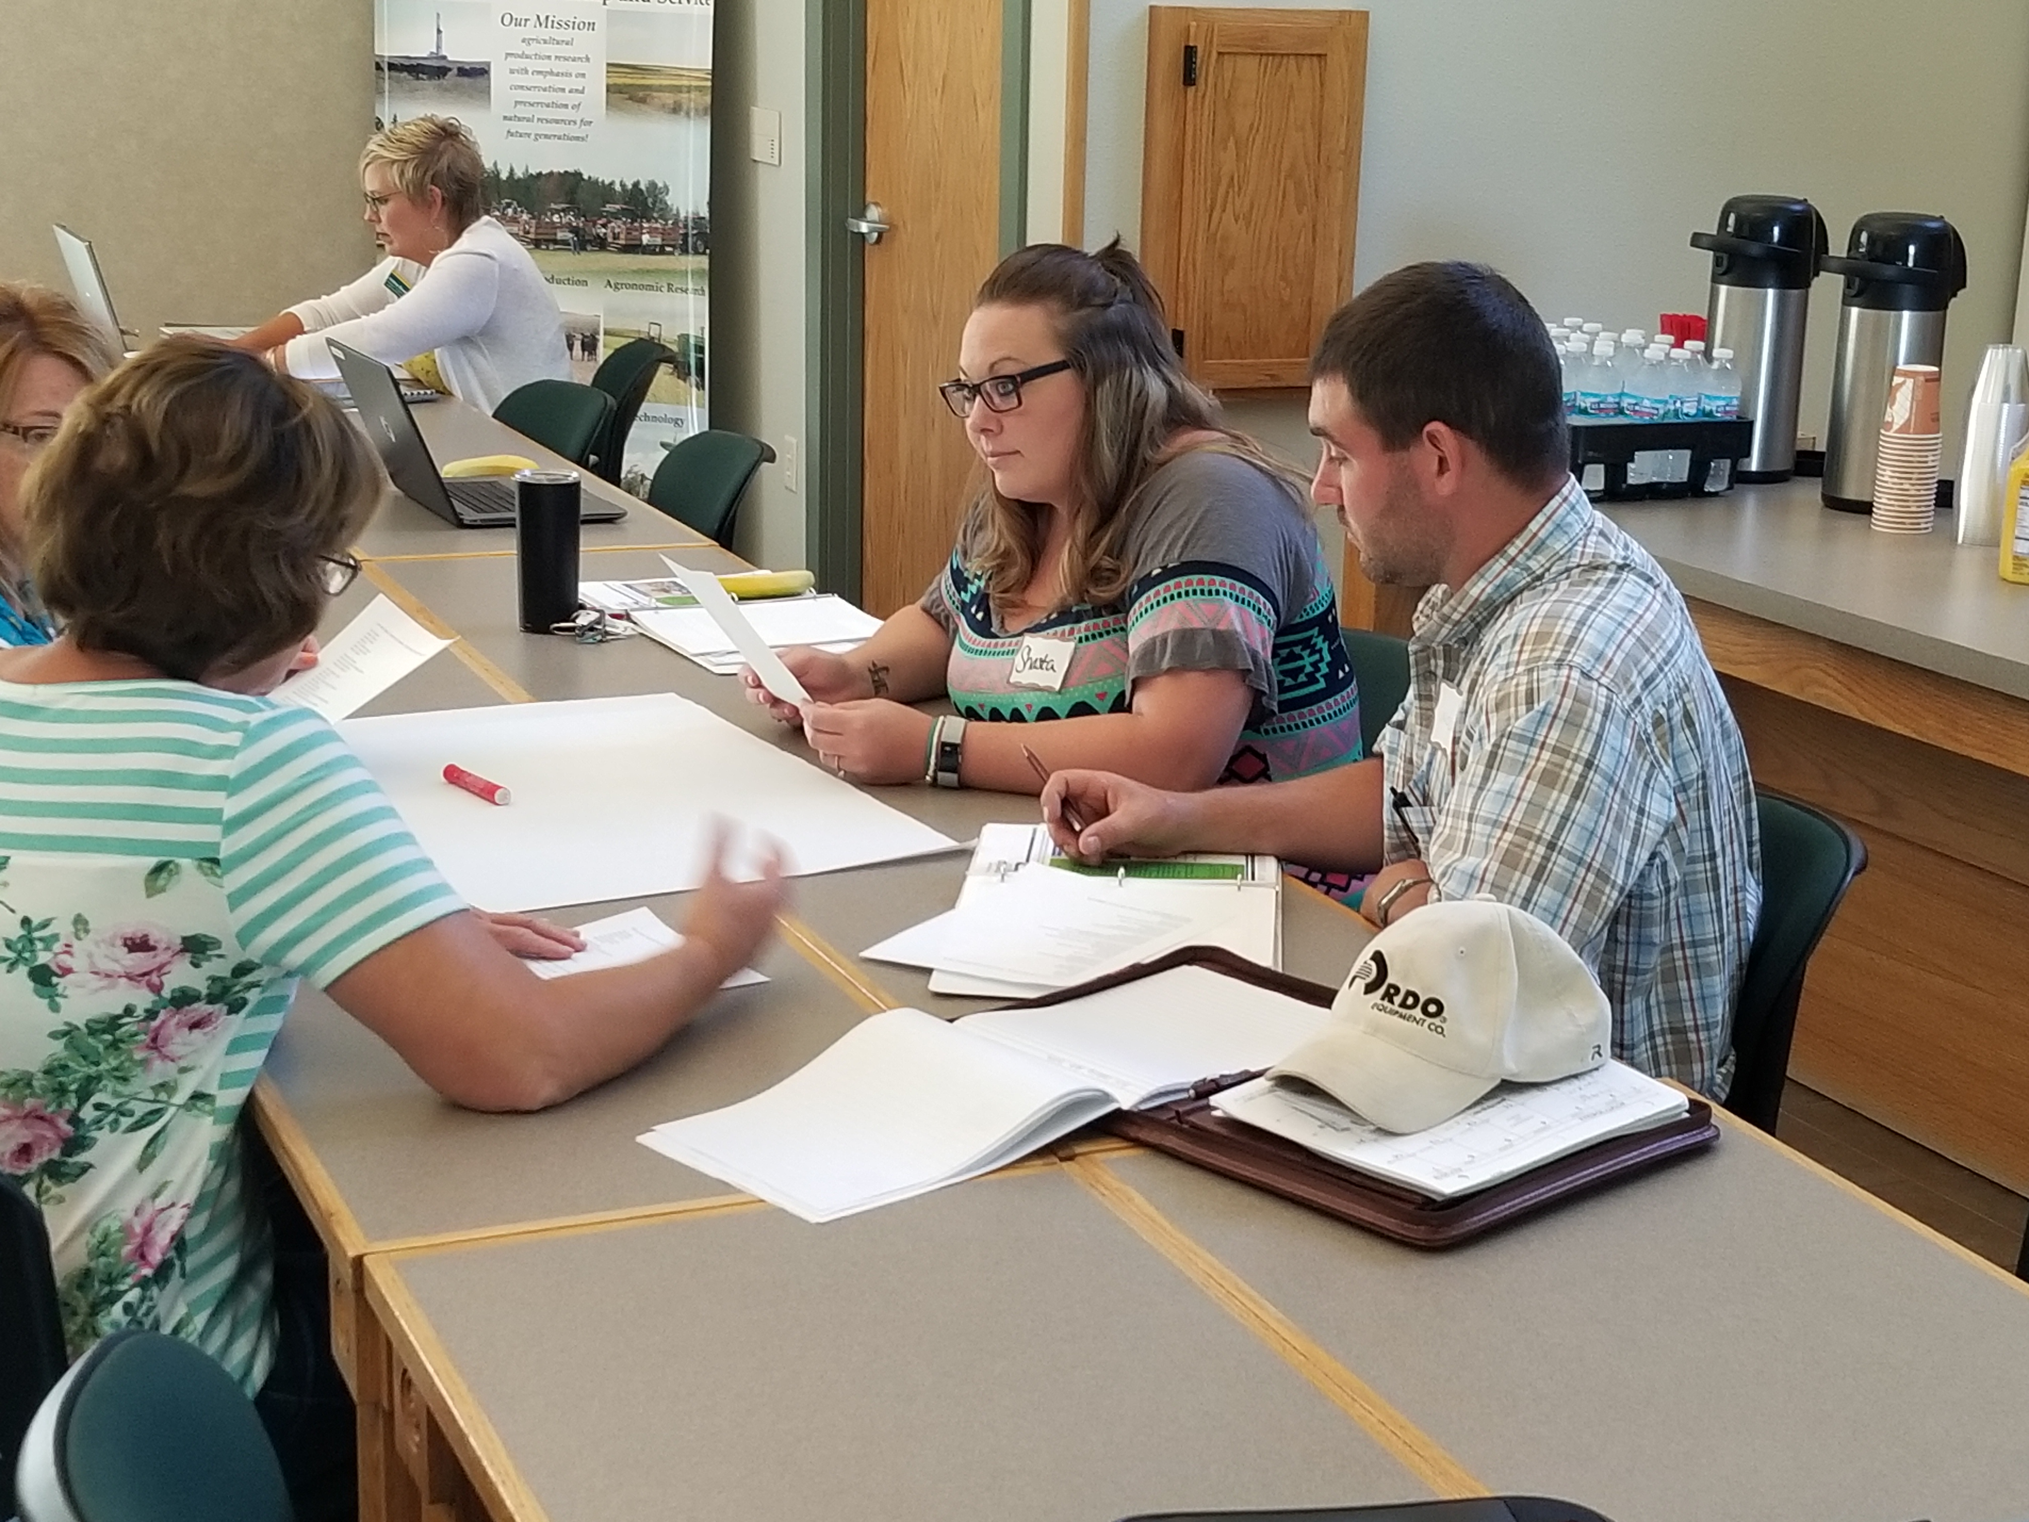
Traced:
[[290, 1522], [239, 1386], [160, 1331], [116, 1331], [43, 1400], [16, 1473], [22, 1522]]

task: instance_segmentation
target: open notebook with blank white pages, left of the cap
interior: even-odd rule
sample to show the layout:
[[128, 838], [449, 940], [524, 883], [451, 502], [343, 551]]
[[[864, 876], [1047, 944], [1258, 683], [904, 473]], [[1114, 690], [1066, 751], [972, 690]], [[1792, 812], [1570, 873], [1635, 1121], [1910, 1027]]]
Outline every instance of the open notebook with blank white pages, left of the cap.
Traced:
[[639, 1140], [830, 1222], [1012, 1163], [1114, 1108], [1268, 1067], [1329, 1019], [1205, 968], [952, 1025], [891, 1009], [775, 1088]]

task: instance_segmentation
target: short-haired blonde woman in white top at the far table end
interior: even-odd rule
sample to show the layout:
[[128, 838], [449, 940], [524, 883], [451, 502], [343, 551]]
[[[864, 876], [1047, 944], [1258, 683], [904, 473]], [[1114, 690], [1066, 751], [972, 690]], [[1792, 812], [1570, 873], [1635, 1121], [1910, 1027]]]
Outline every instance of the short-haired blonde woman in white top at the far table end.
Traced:
[[570, 379], [564, 315], [536, 260], [485, 215], [485, 162], [461, 122], [412, 116], [375, 132], [359, 154], [359, 185], [388, 258], [233, 347], [292, 375], [335, 375], [327, 339], [339, 339], [426, 384], [440, 379], [483, 412], [532, 379]]

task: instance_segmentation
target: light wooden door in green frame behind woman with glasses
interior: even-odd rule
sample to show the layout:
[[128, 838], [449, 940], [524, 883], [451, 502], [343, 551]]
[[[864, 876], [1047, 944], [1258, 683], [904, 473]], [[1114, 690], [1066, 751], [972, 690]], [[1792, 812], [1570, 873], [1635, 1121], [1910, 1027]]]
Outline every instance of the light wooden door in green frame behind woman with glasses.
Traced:
[[866, 0], [860, 599], [889, 615], [952, 554], [972, 481], [958, 373], [972, 292], [1000, 256], [1000, 0]]

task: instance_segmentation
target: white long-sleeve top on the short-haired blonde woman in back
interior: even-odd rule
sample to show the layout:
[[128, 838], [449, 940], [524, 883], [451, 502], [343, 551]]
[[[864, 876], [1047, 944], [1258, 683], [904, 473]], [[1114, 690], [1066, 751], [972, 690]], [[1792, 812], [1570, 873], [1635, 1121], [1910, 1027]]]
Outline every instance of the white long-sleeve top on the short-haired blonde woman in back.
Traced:
[[388, 258], [288, 310], [304, 327], [284, 351], [292, 375], [337, 375], [325, 339], [339, 339], [386, 365], [434, 351], [450, 390], [485, 412], [532, 379], [570, 379], [556, 296], [493, 217], [475, 221], [428, 266]]

